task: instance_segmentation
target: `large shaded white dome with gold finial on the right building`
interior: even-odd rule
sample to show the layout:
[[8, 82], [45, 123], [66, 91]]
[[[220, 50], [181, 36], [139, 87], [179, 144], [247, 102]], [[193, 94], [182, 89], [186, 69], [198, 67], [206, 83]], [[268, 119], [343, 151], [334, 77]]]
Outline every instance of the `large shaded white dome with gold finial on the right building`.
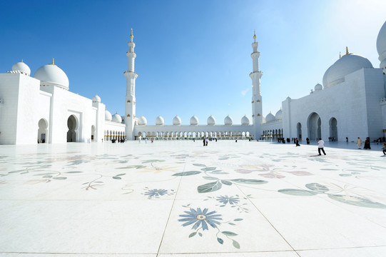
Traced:
[[363, 56], [346, 54], [335, 61], [323, 76], [323, 86], [328, 88], [345, 81], [345, 76], [362, 68], [373, 68], [371, 62]]

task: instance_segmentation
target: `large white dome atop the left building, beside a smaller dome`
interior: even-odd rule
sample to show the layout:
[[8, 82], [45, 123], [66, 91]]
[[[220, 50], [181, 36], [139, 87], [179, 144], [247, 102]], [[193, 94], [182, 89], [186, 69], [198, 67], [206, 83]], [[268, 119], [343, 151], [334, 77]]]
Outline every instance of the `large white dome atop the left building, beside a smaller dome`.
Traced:
[[[54, 62], [54, 61], [53, 61]], [[41, 86], [59, 86], [61, 89], [68, 90], [68, 77], [55, 64], [41, 66], [34, 74], [35, 79], [40, 80]]]

